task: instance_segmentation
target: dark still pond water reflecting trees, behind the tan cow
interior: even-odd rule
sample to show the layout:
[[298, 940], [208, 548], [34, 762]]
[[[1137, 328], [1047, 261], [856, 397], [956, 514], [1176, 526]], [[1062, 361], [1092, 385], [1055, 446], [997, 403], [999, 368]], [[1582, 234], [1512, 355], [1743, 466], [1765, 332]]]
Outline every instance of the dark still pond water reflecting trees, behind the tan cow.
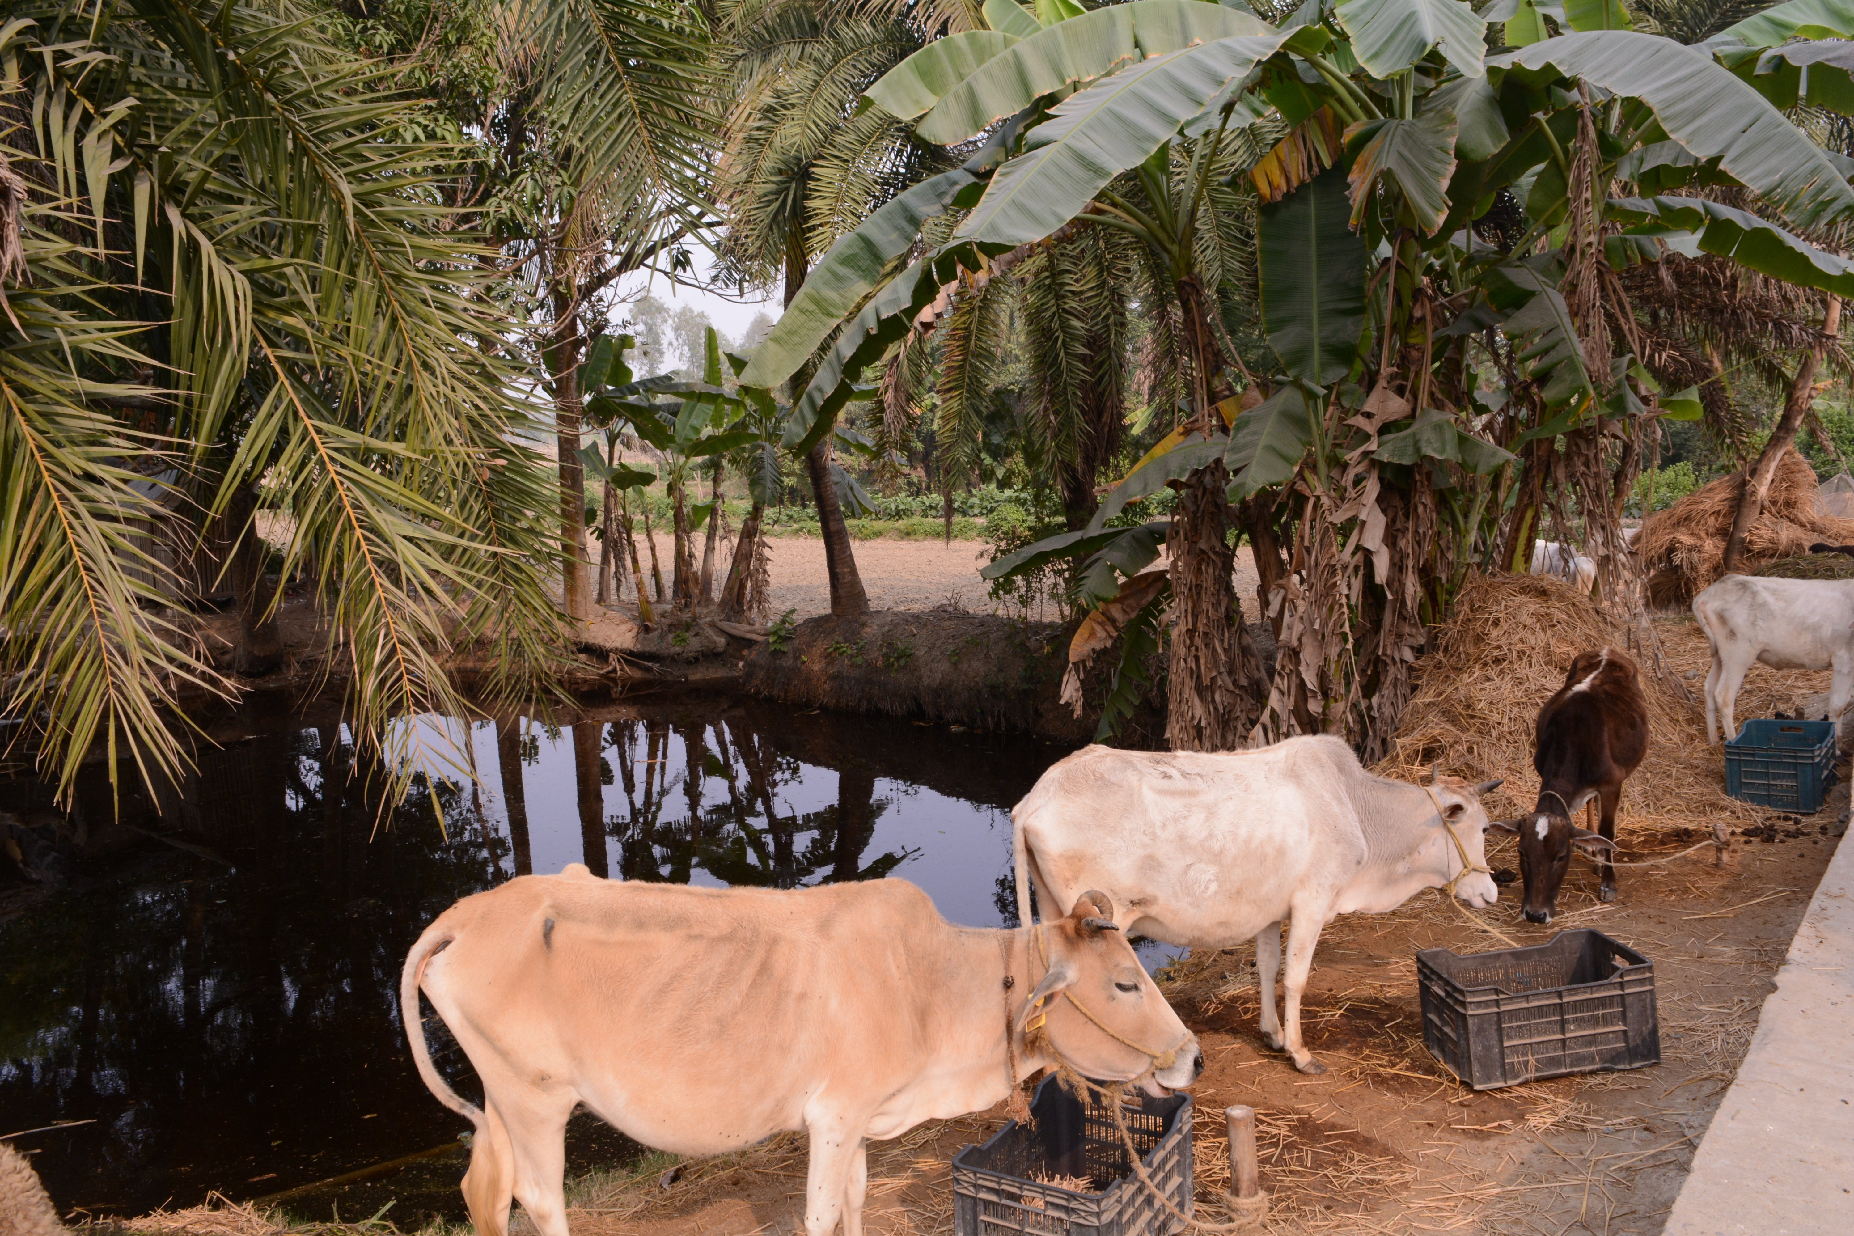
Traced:
[[[206, 728], [219, 747], [197, 775], [154, 799], [124, 778], [121, 810], [100, 767], [69, 813], [0, 782], [0, 812], [50, 839], [28, 865], [59, 882], [0, 875], [0, 1136], [87, 1121], [11, 1140], [63, 1212], [221, 1192], [311, 1217], [462, 1217], [465, 1125], [413, 1073], [397, 1004], [406, 949], [452, 901], [569, 862], [710, 886], [892, 875], [955, 923], [1014, 925], [1009, 810], [1064, 754], [629, 697], [567, 725], [469, 725], [475, 784], [434, 776], [382, 812], [336, 704], [260, 700]], [[469, 1093], [462, 1054], [439, 1062]], [[636, 1153], [590, 1116], [569, 1129], [573, 1169]]]

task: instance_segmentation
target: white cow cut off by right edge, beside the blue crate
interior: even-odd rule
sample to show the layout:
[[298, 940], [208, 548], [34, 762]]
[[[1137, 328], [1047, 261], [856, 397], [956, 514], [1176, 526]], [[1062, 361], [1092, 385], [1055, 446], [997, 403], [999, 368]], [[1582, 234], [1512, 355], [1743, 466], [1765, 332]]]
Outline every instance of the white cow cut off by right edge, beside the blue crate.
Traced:
[[1841, 713], [1854, 697], [1854, 580], [1771, 580], [1728, 574], [1693, 599], [1693, 617], [1713, 647], [1706, 675], [1706, 745], [1724, 713], [1737, 738], [1737, 689], [1752, 662], [1771, 669], [1834, 669], [1828, 715], [1841, 738]]

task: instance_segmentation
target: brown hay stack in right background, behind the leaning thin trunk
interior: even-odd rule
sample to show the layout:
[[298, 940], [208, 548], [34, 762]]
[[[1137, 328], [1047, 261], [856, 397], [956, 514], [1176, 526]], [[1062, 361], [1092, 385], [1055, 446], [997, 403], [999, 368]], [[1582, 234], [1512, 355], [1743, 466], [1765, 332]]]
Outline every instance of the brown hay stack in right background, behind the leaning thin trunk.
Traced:
[[[1648, 569], [1650, 604], [1685, 606], [1724, 574], [1726, 539], [1743, 486], [1745, 473], [1721, 476], [1648, 519], [1635, 547]], [[1750, 563], [1765, 563], [1808, 554], [1815, 541], [1854, 543], [1854, 519], [1835, 519], [1822, 510], [1815, 471], [1787, 450], [1771, 478], [1763, 513], [1745, 537], [1745, 554]]]

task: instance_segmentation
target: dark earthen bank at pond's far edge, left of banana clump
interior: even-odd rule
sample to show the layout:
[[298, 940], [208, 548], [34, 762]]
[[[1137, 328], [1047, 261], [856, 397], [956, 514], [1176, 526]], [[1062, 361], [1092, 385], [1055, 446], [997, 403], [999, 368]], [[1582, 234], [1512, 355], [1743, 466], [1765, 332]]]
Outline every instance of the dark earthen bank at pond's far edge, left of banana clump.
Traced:
[[[1092, 741], [1099, 725], [1109, 671], [1090, 675], [1088, 706], [1077, 717], [1059, 699], [1068, 636], [1070, 628], [1055, 623], [951, 610], [816, 617], [755, 647], [740, 667], [740, 686], [805, 708], [1016, 730], [1079, 745]], [[1162, 739], [1164, 712], [1153, 699], [1118, 736], [1129, 747]]]

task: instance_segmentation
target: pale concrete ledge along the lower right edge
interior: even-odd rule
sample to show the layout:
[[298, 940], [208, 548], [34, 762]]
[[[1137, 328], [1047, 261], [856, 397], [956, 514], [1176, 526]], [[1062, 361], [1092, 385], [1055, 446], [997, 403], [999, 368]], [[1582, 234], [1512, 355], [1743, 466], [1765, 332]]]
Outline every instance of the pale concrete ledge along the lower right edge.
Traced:
[[1665, 1232], [1854, 1232], [1854, 845], [1845, 836]]

